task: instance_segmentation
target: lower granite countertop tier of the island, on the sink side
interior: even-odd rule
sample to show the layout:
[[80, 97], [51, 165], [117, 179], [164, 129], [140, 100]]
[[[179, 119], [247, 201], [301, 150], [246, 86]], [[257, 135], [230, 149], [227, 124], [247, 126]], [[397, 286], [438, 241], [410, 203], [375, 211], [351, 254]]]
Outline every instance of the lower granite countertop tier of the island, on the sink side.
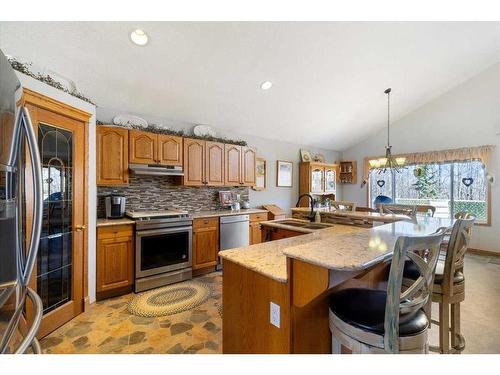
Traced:
[[273, 280], [286, 283], [288, 275], [286, 271], [285, 251], [298, 245], [308, 246], [308, 244], [314, 241], [366, 230], [348, 225], [335, 225], [331, 228], [317, 230], [314, 233], [302, 236], [223, 250], [219, 252], [219, 255], [222, 259], [230, 260]]

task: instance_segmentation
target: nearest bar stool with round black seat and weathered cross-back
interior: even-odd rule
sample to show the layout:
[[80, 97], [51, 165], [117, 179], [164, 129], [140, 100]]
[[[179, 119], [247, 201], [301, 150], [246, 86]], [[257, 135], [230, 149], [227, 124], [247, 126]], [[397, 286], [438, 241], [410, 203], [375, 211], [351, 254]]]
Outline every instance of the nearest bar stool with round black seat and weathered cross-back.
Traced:
[[[427, 353], [430, 298], [439, 248], [445, 230], [426, 237], [400, 237], [394, 246], [387, 290], [352, 288], [330, 297], [332, 353]], [[406, 290], [401, 282], [405, 259], [421, 275]]]

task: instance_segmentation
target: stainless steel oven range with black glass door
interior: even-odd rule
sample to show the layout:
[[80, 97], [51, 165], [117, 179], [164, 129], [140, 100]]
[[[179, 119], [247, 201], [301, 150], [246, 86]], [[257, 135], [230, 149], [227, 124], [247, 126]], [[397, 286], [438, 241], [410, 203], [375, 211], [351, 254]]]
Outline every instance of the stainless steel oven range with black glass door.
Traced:
[[192, 278], [193, 222], [141, 218], [135, 232], [135, 291]]

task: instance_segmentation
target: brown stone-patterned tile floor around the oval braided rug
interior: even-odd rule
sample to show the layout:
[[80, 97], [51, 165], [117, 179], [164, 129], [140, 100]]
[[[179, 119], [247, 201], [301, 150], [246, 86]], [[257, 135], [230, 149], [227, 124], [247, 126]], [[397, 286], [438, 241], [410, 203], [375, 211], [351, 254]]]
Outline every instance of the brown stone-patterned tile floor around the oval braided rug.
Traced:
[[41, 341], [44, 353], [220, 353], [222, 276], [196, 278], [212, 289], [204, 304], [191, 311], [142, 318], [127, 311], [133, 294], [97, 302]]

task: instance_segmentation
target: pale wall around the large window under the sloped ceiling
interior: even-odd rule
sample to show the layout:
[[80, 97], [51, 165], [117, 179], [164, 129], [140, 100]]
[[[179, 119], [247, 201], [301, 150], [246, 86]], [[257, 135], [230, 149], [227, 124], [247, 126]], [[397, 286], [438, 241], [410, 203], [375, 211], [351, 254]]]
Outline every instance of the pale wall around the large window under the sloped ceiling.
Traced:
[[[432, 77], [429, 77], [432, 79]], [[401, 93], [400, 95], [404, 95]], [[382, 155], [386, 129], [343, 152], [344, 160], [357, 160], [358, 181], [362, 181], [363, 159]], [[477, 226], [472, 248], [500, 252], [500, 63], [422, 106], [391, 126], [394, 153], [444, 150], [496, 145], [492, 172], [497, 181], [491, 187], [492, 225]], [[366, 205], [366, 189], [344, 185], [343, 198]]]

